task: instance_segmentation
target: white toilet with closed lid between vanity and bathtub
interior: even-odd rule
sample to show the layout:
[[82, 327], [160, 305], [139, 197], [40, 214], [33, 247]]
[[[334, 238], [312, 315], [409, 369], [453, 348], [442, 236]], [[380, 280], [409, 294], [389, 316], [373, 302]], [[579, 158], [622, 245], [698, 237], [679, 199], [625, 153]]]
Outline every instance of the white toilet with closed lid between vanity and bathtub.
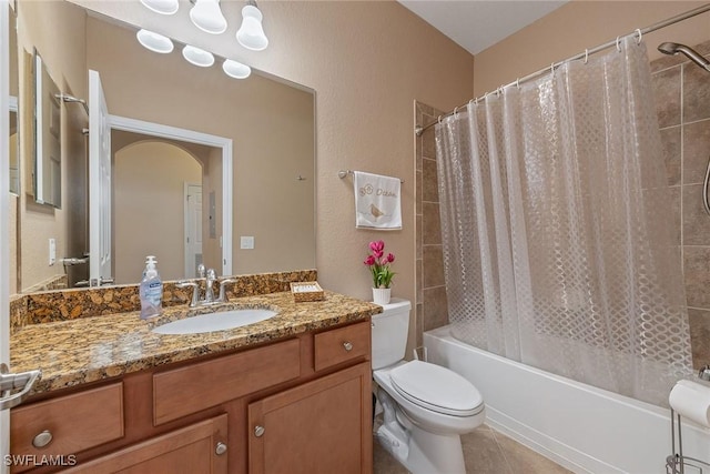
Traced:
[[373, 377], [384, 423], [379, 443], [414, 474], [465, 473], [460, 435], [485, 420], [476, 387], [457, 373], [404, 360], [409, 330], [407, 300], [392, 299], [373, 316]]

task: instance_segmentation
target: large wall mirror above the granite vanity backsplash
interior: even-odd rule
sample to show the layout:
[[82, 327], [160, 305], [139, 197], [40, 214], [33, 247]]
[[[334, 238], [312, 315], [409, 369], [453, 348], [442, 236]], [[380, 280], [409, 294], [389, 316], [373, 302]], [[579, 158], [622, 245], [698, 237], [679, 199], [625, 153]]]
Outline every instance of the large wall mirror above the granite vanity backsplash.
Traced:
[[[187, 11], [183, 13], [186, 16]], [[229, 201], [232, 212], [224, 222], [219, 219], [223, 190], [219, 185], [221, 180], [215, 178], [221, 175], [223, 162], [215, 161], [220, 152], [214, 147], [200, 148], [194, 141], [185, 143], [179, 135], [132, 137], [124, 147], [112, 147], [115, 180], [111, 191], [111, 236], [116, 283], [136, 283], [149, 253], [158, 255], [163, 280], [191, 276], [191, 269], [200, 258], [205, 263], [212, 262], [210, 265], [214, 265], [217, 273], [220, 260], [226, 258], [231, 259], [232, 274], [315, 268], [313, 91], [257, 71], [246, 80], [229, 78], [222, 72], [221, 59], [212, 68], [197, 68], [184, 61], [181, 44], [176, 44], [171, 54], [153, 53], [138, 43], [135, 28], [67, 1], [19, 2], [18, 24], [22, 183], [31, 175], [28, 158], [32, 145], [24, 133], [31, 130], [31, 121], [23, 111], [34, 49], [60, 93], [79, 100], [63, 101], [60, 105], [62, 208], [37, 205], [28, 192], [20, 193], [18, 200], [18, 262], [11, 268], [11, 272], [17, 273], [18, 292], [51, 289], [55, 281], [60, 281], [61, 286], [62, 279], [64, 284], [72, 285], [88, 278], [88, 265], [81, 261], [89, 251], [88, 212], [95, 203], [89, 202], [87, 191], [88, 140], [82, 131], [88, 128], [89, 118], [81, 101], [91, 104], [87, 100], [90, 69], [101, 75], [108, 111], [116, 123], [153, 123], [227, 139], [232, 143], [233, 169], [225, 170], [233, 189]], [[55, 27], [62, 27], [62, 31], [50, 31]], [[121, 133], [136, 131], [116, 125], [111, 132], [112, 141], [125, 141]], [[175, 161], [166, 165], [164, 160], [171, 159], [162, 157], [155, 147], [172, 150], [175, 157], [182, 158], [174, 158]], [[136, 155], [125, 159], [126, 151]], [[159, 159], [159, 154], [162, 158]], [[125, 168], [123, 160], [142, 164]], [[139, 194], [138, 188], [126, 190], [119, 181], [131, 185], [138, 185], [139, 181], [156, 183], [178, 169], [180, 160], [193, 163], [193, 174], [181, 174], [170, 184], [180, 202], [175, 201], [178, 198], [166, 200], [162, 191]], [[201, 238], [205, 245], [202, 256], [194, 249], [185, 249], [184, 228], [190, 215], [183, 201], [194, 194], [191, 194], [194, 188], [187, 184], [199, 181], [195, 168], [202, 177], [202, 199], [190, 215], [193, 228], [200, 230], [195, 239]], [[163, 184], [161, 182], [161, 186]], [[158, 185], [152, 188], [155, 191]], [[145, 186], [141, 189], [144, 193]], [[131, 200], [129, 195], [139, 198]], [[148, 229], [141, 223], [138, 212], [144, 213], [143, 222], [151, 222], [155, 228]], [[170, 231], [169, 218], [178, 222]], [[229, 248], [221, 245], [220, 238], [225, 233], [222, 225], [229, 226], [234, 235]], [[57, 249], [54, 264], [48, 264], [52, 260], [48, 252], [50, 239]], [[253, 241], [253, 249], [242, 248], [242, 240]], [[150, 242], [148, 248], [126, 249], [145, 242]], [[62, 262], [77, 264], [63, 265]]]

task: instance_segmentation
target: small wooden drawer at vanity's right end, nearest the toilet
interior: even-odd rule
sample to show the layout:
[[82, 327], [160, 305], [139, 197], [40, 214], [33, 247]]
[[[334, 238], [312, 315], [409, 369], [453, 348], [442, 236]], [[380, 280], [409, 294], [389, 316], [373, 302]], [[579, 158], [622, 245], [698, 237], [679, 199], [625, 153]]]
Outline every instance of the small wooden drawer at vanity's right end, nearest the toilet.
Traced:
[[369, 359], [369, 321], [318, 333], [314, 345], [316, 371], [358, 357]]

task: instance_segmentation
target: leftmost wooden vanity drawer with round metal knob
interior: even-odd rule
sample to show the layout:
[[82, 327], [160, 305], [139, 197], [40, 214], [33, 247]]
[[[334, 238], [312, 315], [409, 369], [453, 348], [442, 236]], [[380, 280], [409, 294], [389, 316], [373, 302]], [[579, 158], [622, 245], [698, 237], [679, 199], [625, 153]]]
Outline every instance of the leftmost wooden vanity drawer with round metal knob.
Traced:
[[[114, 383], [13, 409], [10, 413], [14, 455], [69, 455], [123, 437], [123, 383]], [[51, 434], [42, 447], [40, 433]], [[27, 466], [28, 468], [30, 466]], [[22, 467], [13, 472], [24, 471]]]

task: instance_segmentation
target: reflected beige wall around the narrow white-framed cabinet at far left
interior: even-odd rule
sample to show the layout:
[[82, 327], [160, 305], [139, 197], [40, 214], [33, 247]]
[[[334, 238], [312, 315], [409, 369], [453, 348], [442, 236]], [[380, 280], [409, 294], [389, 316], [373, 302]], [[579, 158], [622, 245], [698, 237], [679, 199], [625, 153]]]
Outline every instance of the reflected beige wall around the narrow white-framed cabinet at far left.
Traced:
[[[85, 91], [85, 65], [84, 56], [84, 17], [74, 9], [68, 11], [58, 2], [20, 2], [18, 11], [18, 43], [20, 50], [29, 53], [37, 48], [50, 71], [54, 82], [62, 92], [82, 93]], [[50, 34], [51, 24], [64, 24], [69, 34], [57, 38]], [[31, 40], [30, 40], [31, 38]], [[29, 98], [28, 88], [31, 88], [31, 63], [28, 57], [20, 53], [19, 74], [24, 80], [20, 81], [20, 95]], [[71, 87], [70, 87], [71, 84]], [[48, 205], [38, 205], [33, 202], [32, 192], [32, 129], [31, 129], [31, 101], [20, 102], [20, 155], [22, 158], [19, 203], [19, 225], [21, 253], [17, 265], [21, 269], [19, 275], [19, 289], [24, 290], [39, 282], [53, 279], [58, 274], [63, 274], [62, 265], [49, 265], [48, 242], [50, 238], [57, 240], [57, 258], [61, 259], [67, 254], [67, 212], [53, 209]], [[69, 121], [77, 121], [77, 113], [82, 113], [75, 109], [62, 107], [62, 124]], [[85, 118], [85, 115], [84, 115]], [[75, 132], [75, 130], [74, 130]], [[62, 125], [62, 202], [71, 200], [72, 189], [65, 172], [65, 163], [70, 157], [83, 153], [83, 139], [81, 135], [71, 135], [71, 129]], [[71, 255], [79, 256], [79, 255]], [[17, 268], [10, 270], [10, 274], [17, 274]], [[11, 276], [12, 278], [12, 276]]]

